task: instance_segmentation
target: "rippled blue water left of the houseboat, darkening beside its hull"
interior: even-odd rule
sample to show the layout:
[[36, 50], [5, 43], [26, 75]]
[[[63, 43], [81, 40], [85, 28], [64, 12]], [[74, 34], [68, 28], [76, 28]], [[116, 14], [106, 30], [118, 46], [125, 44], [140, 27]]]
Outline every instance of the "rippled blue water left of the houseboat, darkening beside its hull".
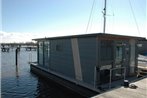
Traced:
[[14, 50], [1, 52], [2, 98], [83, 98], [75, 92], [31, 73], [29, 61], [36, 60], [36, 51], [21, 49], [16, 66]]

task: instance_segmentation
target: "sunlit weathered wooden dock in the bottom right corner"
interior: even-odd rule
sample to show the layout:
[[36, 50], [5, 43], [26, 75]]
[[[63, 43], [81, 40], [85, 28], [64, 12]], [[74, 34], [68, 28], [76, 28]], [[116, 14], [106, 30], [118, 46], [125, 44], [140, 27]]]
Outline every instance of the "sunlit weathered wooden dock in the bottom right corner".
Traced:
[[137, 88], [114, 88], [92, 98], [147, 98], [147, 76], [130, 84], [135, 84]]

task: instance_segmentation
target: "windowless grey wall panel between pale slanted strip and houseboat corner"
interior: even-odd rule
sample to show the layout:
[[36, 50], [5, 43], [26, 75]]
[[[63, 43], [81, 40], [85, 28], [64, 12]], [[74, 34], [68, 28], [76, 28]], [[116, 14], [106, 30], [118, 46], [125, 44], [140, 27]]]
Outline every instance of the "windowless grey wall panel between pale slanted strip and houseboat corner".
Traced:
[[79, 38], [78, 42], [83, 81], [94, 85], [94, 68], [96, 66], [96, 38]]

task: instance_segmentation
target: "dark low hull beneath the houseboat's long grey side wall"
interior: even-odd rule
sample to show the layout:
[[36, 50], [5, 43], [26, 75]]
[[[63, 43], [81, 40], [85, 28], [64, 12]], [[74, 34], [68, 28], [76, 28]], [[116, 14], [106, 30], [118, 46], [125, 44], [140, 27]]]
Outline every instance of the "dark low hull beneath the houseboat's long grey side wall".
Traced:
[[84, 87], [82, 84], [80, 83], [76, 83], [74, 80], [68, 80], [68, 79], [64, 79], [63, 77], [60, 77], [58, 76], [56, 73], [54, 72], [51, 72], [51, 71], [48, 71], [44, 68], [41, 68], [40, 66], [34, 64], [34, 63], [31, 63], [30, 64], [30, 68], [31, 68], [31, 72], [41, 76], [41, 77], [44, 77], [46, 79], [49, 79], [53, 82], [56, 82], [64, 87], [66, 87], [67, 89], [70, 89], [76, 93], [79, 93], [80, 95], [82, 96], [85, 96], [85, 97], [91, 97], [91, 96], [94, 96], [98, 93], [100, 93], [99, 90], [97, 89], [90, 89], [90, 88], [87, 88], [87, 87]]

